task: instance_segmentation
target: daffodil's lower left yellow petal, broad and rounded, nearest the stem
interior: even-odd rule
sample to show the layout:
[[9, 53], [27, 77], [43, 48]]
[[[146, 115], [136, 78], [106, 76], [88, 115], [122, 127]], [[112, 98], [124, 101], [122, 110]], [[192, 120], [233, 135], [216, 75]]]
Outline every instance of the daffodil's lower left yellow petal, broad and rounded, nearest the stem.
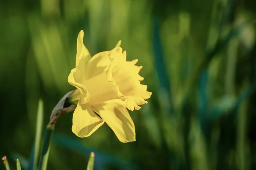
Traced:
[[104, 121], [87, 105], [77, 104], [73, 114], [72, 132], [81, 138], [90, 136]]

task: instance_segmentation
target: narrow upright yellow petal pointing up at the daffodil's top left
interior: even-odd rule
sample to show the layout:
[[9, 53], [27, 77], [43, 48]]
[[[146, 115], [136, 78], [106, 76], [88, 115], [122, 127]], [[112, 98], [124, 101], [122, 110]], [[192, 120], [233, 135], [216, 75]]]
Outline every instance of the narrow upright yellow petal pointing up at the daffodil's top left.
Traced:
[[89, 59], [91, 58], [89, 51], [84, 46], [84, 31], [81, 30], [77, 37], [77, 45], [76, 45], [76, 68], [81, 71], [81, 74], [86, 78], [86, 65]]

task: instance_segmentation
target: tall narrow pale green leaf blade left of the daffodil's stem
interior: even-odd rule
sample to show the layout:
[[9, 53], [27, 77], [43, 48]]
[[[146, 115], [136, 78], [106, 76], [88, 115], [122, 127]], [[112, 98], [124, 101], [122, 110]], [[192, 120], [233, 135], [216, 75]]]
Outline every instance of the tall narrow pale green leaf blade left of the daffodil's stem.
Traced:
[[36, 131], [35, 131], [35, 155], [34, 155], [34, 166], [38, 164], [40, 141], [42, 136], [42, 127], [44, 120], [44, 102], [42, 99], [38, 101], [38, 112], [36, 119]]

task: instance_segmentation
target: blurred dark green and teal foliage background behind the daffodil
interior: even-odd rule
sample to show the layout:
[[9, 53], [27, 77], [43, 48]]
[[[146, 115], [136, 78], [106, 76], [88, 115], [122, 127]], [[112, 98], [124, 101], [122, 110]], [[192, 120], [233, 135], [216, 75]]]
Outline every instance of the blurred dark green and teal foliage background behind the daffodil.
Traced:
[[0, 156], [28, 167], [38, 101], [44, 136], [74, 89], [67, 77], [83, 29], [91, 55], [122, 40], [153, 95], [130, 112], [136, 142], [119, 142], [106, 124], [78, 138], [72, 113], [61, 116], [49, 170], [85, 169], [91, 151], [96, 170], [256, 169], [255, 15], [255, 0], [1, 0]]

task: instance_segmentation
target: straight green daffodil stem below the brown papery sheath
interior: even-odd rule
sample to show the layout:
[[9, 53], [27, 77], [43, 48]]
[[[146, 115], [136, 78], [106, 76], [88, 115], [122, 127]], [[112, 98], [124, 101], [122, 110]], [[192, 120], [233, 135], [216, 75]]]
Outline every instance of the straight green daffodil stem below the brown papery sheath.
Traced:
[[44, 144], [43, 144], [43, 149], [42, 149], [42, 153], [41, 153], [38, 170], [46, 170], [48, 156], [49, 156], [49, 149], [50, 149], [49, 147], [50, 147], [50, 142], [52, 139], [52, 133], [53, 133], [54, 127], [55, 127], [55, 125], [47, 125], [47, 127], [46, 127]]

